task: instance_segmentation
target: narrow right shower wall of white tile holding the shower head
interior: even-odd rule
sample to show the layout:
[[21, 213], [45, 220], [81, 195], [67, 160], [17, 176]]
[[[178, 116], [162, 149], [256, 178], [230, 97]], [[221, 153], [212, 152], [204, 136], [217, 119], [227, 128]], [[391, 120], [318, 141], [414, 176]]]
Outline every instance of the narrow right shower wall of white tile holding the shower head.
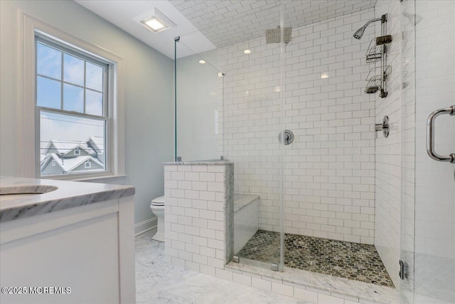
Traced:
[[[392, 73], [387, 76], [387, 98], [375, 95], [375, 122], [390, 119], [390, 134], [385, 138], [378, 132], [376, 140], [376, 201], [375, 201], [375, 247], [382, 263], [395, 286], [399, 285], [400, 261], [400, 214], [402, 189], [402, 120], [401, 113], [401, 23], [400, 1], [378, 1], [376, 18], [387, 14], [387, 34], [392, 43], [387, 46], [387, 65]], [[380, 23], [376, 36], [380, 36]]]

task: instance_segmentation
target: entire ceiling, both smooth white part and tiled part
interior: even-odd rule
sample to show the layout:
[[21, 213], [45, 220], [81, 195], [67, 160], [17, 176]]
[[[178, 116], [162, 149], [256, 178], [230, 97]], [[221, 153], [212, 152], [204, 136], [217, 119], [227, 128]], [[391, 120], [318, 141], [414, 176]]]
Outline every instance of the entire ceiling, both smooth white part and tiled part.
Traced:
[[[370, 9], [377, 0], [75, 1], [173, 59], [176, 36], [184, 37], [187, 46], [179, 50], [180, 58], [262, 37], [267, 28], [279, 26], [282, 9], [284, 26], [296, 28]], [[153, 33], [142, 26], [139, 21], [151, 16], [154, 9], [176, 27]]]

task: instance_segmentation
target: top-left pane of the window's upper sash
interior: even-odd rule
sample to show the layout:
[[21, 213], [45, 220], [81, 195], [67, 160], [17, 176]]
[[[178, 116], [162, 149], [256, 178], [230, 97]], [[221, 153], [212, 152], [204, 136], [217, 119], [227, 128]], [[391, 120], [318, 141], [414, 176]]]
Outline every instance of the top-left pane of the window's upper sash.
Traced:
[[41, 43], [36, 46], [36, 70], [38, 74], [62, 79], [62, 52]]

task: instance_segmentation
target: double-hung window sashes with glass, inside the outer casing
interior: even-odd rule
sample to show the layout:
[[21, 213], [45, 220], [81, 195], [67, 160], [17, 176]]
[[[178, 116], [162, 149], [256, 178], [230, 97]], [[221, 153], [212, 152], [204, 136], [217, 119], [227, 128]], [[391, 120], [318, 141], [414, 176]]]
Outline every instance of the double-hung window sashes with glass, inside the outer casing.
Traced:
[[40, 177], [108, 172], [111, 65], [39, 33], [35, 43]]

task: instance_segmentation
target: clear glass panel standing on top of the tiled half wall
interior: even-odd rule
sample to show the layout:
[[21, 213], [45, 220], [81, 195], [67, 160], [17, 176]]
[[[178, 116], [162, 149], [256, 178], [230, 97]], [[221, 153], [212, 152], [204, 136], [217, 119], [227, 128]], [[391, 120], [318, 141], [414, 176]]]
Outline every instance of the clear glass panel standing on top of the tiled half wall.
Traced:
[[186, 36], [176, 41], [176, 157], [182, 161], [223, 155], [223, 75], [217, 50], [195, 53]]

